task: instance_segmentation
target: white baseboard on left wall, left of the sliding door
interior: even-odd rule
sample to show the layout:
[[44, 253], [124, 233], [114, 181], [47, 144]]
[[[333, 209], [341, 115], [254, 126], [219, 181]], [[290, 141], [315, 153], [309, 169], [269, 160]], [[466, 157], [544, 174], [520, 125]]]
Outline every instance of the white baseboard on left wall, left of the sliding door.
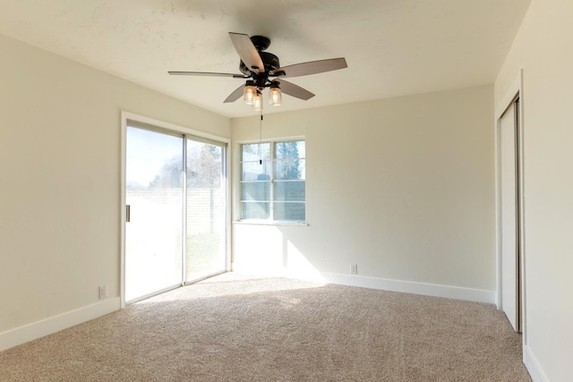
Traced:
[[105, 316], [108, 313], [119, 310], [119, 308], [119, 297], [116, 297], [5, 331], [0, 333], [0, 352], [45, 335], [51, 335], [68, 327], [73, 327], [90, 319]]

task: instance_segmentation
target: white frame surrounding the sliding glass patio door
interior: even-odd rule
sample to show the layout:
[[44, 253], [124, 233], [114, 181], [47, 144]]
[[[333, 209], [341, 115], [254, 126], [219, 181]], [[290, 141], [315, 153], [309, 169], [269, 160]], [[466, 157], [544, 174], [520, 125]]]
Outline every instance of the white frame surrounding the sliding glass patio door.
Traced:
[[[125, 223], [127, 218], [127, 211], [126, 211], [126, 163], [127, 163], [127, 126], [128, 122], [133, 121], [135, 124], [143, 124], [149, 125], [152, 128], [158, 130], [165, 130], [167, 132], [175, 132], [181, 133], [184, 135], [184, 140], [187, 138], [197, 137], [203, 138], [206, 140], [213, 140], [216, 142], [220, 142], [221, 144], [225, 145], [226, 147], [226, 155], [224, 158], [224, 179], [226, 182], [223, 185], [223, 192], [224, 192], [224, 204], [223, 208], [225, 210], [225, 229], [226, 229], [226, 242], [225, 242], [225, 256], [226, 256], [226, 271], [231, 269], [231, 245], [230, 245], [230, 237], [231, 237], [231, 224], [230, 224], [230, 194], [229, 194], [229, 187], [231, 184], [230, 176], [230, 158], [231, 158], [231, 140], [219, 137], [218, 135], [213, 135], [207, 132], [201, 132], [198, 130], [193, 130], [184, 126], [179, 126], [174, 123], [167, 123], [163, 121], [158, 121], [156, 119], [146, 117], [143, 115], [136, 115], [133, 113], [122, 111], [121, 113], [121, 180], [120, 180], [120, 230], [121, 230], [121, 237], [120, 237], [120, 254], [121, 254], [121, 262], [120, 262], [120, 301], [121, 301], [121, 308], [125, 307]], [[184, 143], [184, 148], [186, 149], [186, 143]], [[186, 162], [186, 159], [184, 159]], [[186, 203], [186, 200], [184, 200]], [[185, 208], [185, 206], [184, 206]], [[185, 208], [186, 209], [186, 208]], [[186, 231], [184, 232], [184, 235]], [[185, 242], [185, 240], [184, 240]], [[185, 256], [183, 257], [185, 259]], [[183, 267], [183, 274], [182, 274], [182, 285], [184, 284], [184, 272], [185, 268]]]

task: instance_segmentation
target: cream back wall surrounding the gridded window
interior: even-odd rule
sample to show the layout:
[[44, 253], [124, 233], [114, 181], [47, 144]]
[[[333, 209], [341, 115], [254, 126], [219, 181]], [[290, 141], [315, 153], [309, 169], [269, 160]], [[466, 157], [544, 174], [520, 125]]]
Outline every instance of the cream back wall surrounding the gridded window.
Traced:
[[[235, 224], [235, 268], [428, 294], [449, 285], [492, 301], [492, 115], [492, 86], [265, 115], [263, 140], [306, 138], [309, 226]], [[232, 121], [235, 143], [258, 139], [258, 117]]]

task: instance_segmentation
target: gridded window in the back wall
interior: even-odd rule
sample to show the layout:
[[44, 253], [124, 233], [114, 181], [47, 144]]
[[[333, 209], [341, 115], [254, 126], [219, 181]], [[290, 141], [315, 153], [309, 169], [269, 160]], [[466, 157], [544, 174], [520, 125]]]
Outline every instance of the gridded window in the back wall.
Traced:
[[241, 219], [304, 222], [304, 140], [241, 145]]

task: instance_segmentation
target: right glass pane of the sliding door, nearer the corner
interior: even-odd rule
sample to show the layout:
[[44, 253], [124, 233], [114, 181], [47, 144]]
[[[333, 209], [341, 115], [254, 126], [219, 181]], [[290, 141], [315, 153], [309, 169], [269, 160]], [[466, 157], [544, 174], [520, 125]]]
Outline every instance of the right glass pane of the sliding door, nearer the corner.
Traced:
[[224, 148], [187, 140], [185, 281], [227, 268]]

